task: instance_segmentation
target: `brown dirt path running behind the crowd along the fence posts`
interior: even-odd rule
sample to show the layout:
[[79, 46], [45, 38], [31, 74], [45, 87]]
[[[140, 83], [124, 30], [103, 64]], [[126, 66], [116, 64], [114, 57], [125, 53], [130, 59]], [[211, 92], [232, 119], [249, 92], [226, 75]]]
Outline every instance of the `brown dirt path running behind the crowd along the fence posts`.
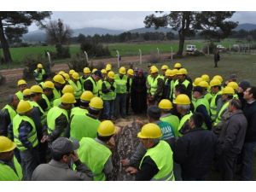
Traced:
[[[170, 56], [170, 54], [162, 54], [161, 58], [162, 60], [166, 61], [168, 56]], [[143, 62], [147, 62], [148, 58], [150, 57], [150, 55], [143, 55]], [[97, 62], [111, 62], [113, 63], [113, 65], [117, 65], [117, 58], [108, 58], [108, 59], [97, 59], [97, 60], [92, 60], [93, 63], [97, 63]], [[124, 56], [122, 57], [122, 60], [120, 61], [121, 64], [128, 64], [128, 63], [139, 63], [139, 56]], [[68, 71], [69, 67], [67, 66], [67, 63], [61, 63], [61, 64], [57, 64], [52, 68], [53, 72], [59, 72], [61, 70], [64, 71]], [[0, 73], [3, 74], [3, 76], [6, 78], [7, 82], [16, 82], [18, 79], [22, 78], [22, 73], [23, 68], [14, 68], [14, 69], [3, 69], [0, 70]]]

